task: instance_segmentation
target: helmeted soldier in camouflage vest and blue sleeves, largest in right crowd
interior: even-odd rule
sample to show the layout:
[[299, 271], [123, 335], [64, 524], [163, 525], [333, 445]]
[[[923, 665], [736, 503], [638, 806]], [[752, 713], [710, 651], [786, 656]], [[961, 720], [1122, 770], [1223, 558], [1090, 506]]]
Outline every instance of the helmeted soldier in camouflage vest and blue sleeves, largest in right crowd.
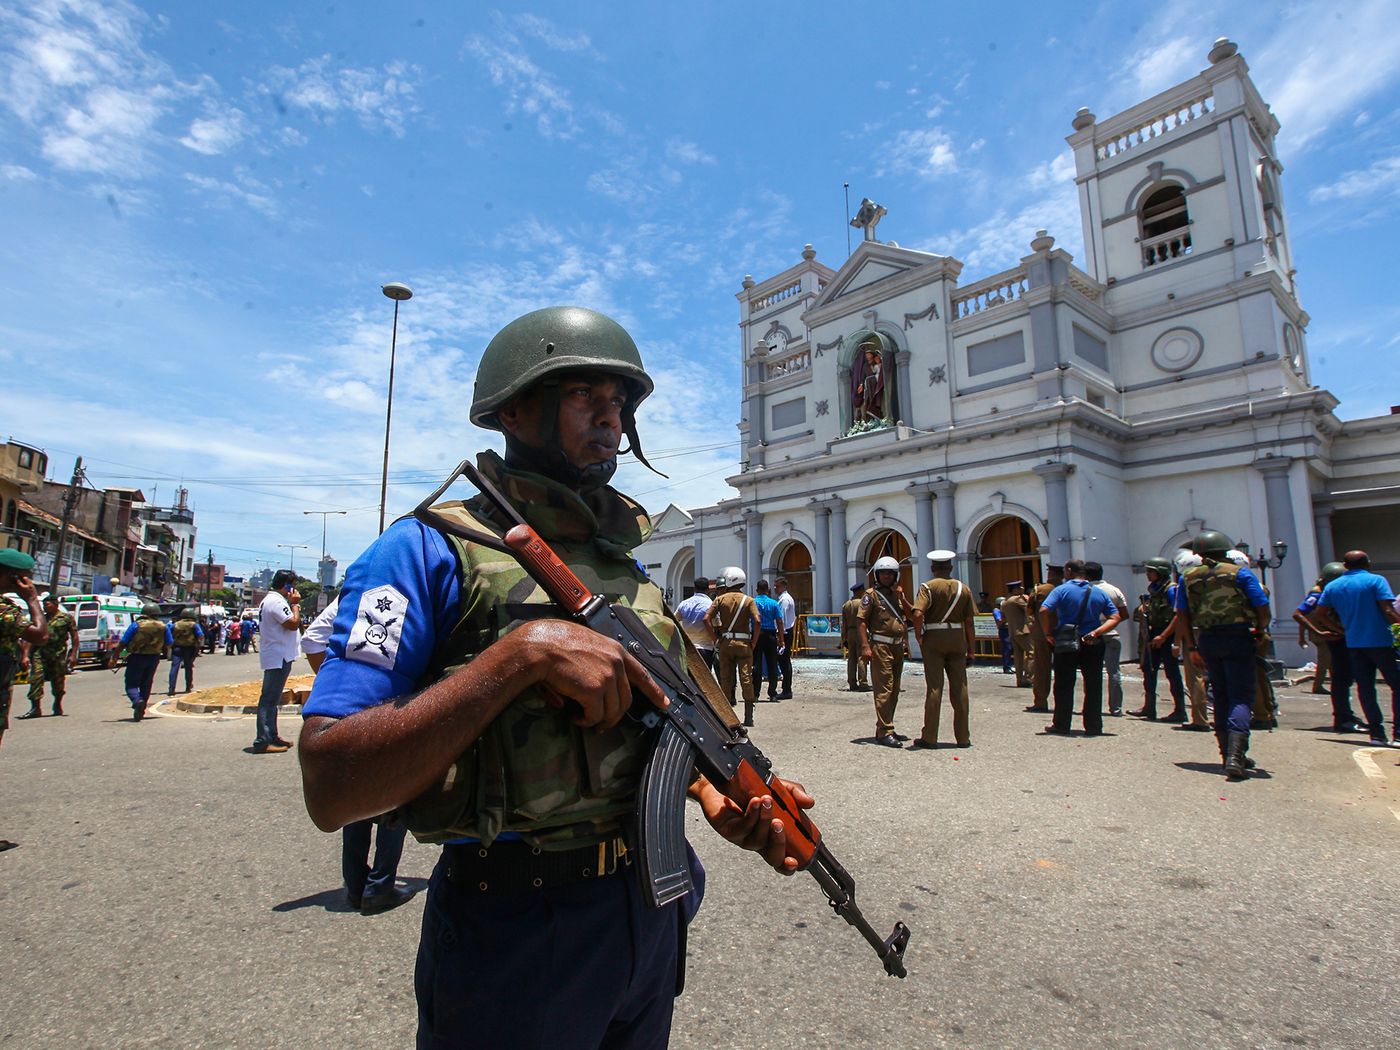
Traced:
[[1177, 637], [1215, 696], [1215, 739], [1228, 780], [1245, 780], [1254, 704], [1256, 637], [1268, 637], [1268, 598], [1249, 568], [1226, 557], [1231, 540], [1207, 529], [1190, 542], [1201, 564], [1182, 574], [1176, 591]]

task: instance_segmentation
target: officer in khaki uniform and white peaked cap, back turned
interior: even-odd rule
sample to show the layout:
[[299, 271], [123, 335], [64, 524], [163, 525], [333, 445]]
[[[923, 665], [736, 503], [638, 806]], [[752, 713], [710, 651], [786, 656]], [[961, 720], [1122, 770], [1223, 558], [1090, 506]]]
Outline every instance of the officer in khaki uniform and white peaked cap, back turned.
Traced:
[[948, 703], [953, 708], [953, 739], [970, 748], [967, 725], [967, 664], [973, 659], [973, 612], [976, 606], [962, 580], [953, 580], [952, 550], [930, 550], [932, 580], [925, 580], [914, 595], [914, 636], [924, 654], [924, 728], [913, 748], [938, 746], [938, 720], [944, 706], [944, 678], [948, 679]]

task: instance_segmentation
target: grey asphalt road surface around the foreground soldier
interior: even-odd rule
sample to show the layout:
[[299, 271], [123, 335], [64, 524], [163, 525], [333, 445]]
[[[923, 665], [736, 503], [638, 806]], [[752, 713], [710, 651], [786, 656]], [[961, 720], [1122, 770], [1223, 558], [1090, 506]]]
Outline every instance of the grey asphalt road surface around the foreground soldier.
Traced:
[[[255, 678], [256, 657], [199, 675]], [[692, 812], [710, 886], [672, 1046], [1400, 1044], [1400, 752], [1319, 731], [1323, 699], [1292, 692], [1256, 734], [1260, 776], [1226, 784], [1210, 735], [1040, 736], [1009, 682], [976, 672], [972, 749], [893, 750], [843, 668], [799, 662], [755, 739], [818, 795], [871, 921], [913, 928], [909, 980], [811, 878]], [[412, 1046], [423, 902], [340, 903], [295, 752], [248, 753], [251, 717], [133, 724], [106, 672], [70, 683], [70, 717], [13, 722], [0, 749], [0, 837], [21, 843], [0, 854], [0, 1046]], [[903, 732], [921, 700], [911, 668]], [[405, 885], [434, 858], [410, 840]]]

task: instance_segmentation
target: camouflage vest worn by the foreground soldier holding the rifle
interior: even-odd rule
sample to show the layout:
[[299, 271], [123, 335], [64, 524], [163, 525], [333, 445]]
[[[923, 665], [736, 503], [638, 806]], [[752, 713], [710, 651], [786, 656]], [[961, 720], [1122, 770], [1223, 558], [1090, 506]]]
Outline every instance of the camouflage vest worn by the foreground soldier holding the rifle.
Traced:
[[[612, 489], [588, 497], [538, 475], [508, 470], [494, 452], [477, 459], [505, 497], [595, 594], [630, 606], [680, 657], [679, 629], [661, 591], [631, 557], [651, 531], [647, 512]], [[501, 535], [482, 498], [434, 510], [468, 528]], [[469, 664], [497, 638], [557, 606], [512, 557], [448, 536], [458, 557], [461, 619], [438, 644], [421, 685]], [[650, 755], [643, 729], [624, 718], [605, 734], [574, 725], [538, 689], [528, 689], [493, 721], [435, 787], [399, 809], [419, 841], [479, 839], [504, 832], [543, 850], [570, 850], [623, 832], [636, 809], [637, 781]]]

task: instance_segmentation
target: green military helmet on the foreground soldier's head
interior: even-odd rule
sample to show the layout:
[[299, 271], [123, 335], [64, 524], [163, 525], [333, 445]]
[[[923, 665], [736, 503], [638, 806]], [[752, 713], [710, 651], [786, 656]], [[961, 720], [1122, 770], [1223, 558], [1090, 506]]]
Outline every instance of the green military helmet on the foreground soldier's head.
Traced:
[[547, 307], [515, 318], [482, 354], [470, 419], [500, 430], [497, 410], [546, 375], [595, 371], [620, 375], [631, 399], [627, 414], [652, 391], [631, 336], [612, 318], [584, 307]]

